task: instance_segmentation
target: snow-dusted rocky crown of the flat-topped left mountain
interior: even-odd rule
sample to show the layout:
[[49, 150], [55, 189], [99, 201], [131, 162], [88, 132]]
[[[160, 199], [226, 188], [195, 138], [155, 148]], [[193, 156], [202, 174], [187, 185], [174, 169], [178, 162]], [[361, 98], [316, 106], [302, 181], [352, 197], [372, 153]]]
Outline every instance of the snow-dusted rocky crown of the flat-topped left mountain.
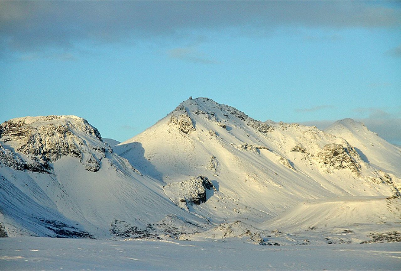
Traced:
[[[83, 140], [85, 135], [93, 142]], [[0, 163], [15, 170], [51, 172], [62, 156], [79, 158], [86, 170], [96, 172], [107, 145], [95, 127], [76, 116], [43, 116], [11, 119], [0, 124]]]

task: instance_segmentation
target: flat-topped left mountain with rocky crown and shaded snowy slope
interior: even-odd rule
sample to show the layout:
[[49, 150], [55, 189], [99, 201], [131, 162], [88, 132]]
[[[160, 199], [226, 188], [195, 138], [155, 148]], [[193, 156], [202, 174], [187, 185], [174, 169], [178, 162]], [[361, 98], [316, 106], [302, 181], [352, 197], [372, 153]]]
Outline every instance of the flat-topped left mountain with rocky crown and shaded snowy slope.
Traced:
[[187, 233], [208, 227], [82, 118], [6, 121], [0, 146], [0, 225], [8, 236], [156, 238], [167, 234], [159, 224], [169, 215]]

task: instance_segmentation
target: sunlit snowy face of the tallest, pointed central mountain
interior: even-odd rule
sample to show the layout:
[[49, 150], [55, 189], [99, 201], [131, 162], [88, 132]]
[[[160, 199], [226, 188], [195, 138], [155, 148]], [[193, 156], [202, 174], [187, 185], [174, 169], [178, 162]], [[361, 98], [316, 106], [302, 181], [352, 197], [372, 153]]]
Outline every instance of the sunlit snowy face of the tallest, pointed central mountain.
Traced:
[[393, 178], [344, 138], [296, 123], [263, 123], [208, 98], [182, 102], [114, 150], [166, 187], [209, 178], [216, 191], [188, 208], [217, 223], [262, 222], [305, 200], [397, 192]]

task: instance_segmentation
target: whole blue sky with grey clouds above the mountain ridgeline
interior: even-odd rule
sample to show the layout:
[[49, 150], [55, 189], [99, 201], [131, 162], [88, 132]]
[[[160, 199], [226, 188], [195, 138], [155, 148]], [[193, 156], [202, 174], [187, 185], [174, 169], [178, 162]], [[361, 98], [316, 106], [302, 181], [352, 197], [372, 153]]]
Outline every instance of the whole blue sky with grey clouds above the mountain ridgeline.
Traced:
[[401, 2], [0, 2], [0, 122], [127, 140], [209, 97], [265, 121], [363, 121], [401, 145]]

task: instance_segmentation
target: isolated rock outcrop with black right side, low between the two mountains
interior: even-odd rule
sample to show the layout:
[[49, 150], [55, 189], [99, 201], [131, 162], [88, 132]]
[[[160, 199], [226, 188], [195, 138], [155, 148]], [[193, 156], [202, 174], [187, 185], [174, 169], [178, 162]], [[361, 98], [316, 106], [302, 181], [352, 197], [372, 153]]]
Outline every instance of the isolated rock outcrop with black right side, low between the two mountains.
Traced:
[[199, 205], [207, 200], [207, 191], [213, 192], [216, 188], [205, 176], [198, 176], [182, 182], [174, 182], [163, 187], [164, 193], [181, 208], [187, 204]]

